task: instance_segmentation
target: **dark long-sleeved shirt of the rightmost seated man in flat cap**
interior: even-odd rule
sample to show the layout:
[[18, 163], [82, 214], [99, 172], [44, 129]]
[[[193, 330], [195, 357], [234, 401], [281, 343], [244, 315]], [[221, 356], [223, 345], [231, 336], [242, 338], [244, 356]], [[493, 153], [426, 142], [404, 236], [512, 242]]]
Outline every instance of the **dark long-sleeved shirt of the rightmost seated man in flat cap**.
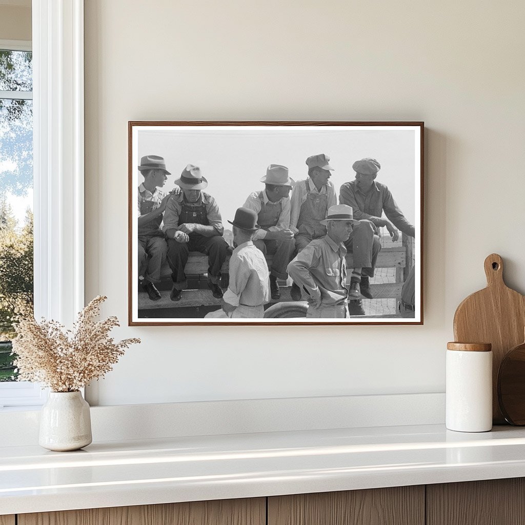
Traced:
[[383, 211], [390, 222], [404, 234], [415, 236], [414, 226], [406, 220], [403, 212], [394, 201], [390, 190], [379, 182], [373, 182], [368, 193], [362, 193], [356, 181], [345, 182], [341, 186], [339, 204], [346, 204], [353, 210], [354, 219], [367, 219], [376, 226], [385, 226]]

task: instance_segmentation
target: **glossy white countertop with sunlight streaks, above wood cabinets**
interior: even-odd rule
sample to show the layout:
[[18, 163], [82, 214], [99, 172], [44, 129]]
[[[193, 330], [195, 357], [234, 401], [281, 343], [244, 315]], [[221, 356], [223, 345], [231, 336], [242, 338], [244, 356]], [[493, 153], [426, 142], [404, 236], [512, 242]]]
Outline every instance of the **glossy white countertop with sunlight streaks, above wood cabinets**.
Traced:
[[443, 425], [0, 448], [0, 514], [525, 476], [525, 429]]

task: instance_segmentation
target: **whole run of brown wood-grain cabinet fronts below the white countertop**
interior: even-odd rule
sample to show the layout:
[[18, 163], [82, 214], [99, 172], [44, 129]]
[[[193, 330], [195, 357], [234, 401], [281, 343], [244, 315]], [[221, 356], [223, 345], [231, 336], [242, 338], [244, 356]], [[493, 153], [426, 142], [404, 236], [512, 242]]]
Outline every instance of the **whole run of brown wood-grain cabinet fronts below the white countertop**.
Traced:
[[0, 525], [517, 525], [525, 478], [0, 516]]

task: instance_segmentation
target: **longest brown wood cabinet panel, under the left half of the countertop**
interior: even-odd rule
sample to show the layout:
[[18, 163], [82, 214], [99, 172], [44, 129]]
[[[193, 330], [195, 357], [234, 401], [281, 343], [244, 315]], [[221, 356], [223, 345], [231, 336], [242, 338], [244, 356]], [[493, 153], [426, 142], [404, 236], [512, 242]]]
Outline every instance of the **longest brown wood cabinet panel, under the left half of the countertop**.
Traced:
[[265, 525], [265, 498], [19, 514], [18, 525]]

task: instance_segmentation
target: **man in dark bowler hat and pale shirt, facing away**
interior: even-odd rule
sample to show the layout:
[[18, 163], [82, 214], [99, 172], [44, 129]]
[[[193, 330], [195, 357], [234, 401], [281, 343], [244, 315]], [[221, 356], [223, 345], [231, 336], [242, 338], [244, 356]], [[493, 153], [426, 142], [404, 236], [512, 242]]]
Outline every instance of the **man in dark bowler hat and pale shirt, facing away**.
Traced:
[[261, 318], [269, 302], [269, 274], [266, 259], [252, 238], [260, 227], [253, 209], [238, 208], [233, 225], [236, 248], [229, 261], [229, 285], [223, 297], [223, 310], [232, 319]]

